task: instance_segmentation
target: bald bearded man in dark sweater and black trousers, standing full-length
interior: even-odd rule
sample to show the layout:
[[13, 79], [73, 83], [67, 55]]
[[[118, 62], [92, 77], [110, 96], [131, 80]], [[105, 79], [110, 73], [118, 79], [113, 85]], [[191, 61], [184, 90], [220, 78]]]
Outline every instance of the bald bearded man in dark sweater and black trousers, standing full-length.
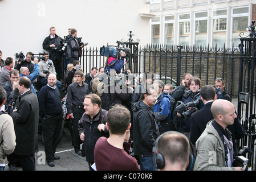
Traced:
[[39, 116], [43, 120], [43, 139], [46, 161], [49, 166], [54, 167], [56, 147], [60, 142], [62, 128], [62, 102], [59, 89], [56, 86], [56, 75], [51, 73], [48, 76], [48, 84], [39, 90]]

